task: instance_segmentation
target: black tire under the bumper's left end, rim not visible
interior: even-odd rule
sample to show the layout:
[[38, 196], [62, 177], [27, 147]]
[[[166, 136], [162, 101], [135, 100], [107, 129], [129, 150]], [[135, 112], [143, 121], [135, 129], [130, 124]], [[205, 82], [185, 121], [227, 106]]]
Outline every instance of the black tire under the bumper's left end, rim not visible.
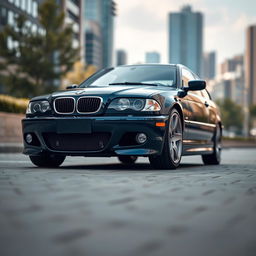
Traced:
[[44, 154], [39, 156], [29, 156], [31, 162], [38, 167], [59, 167], [65, 160], [66, 156], [57, 156]]

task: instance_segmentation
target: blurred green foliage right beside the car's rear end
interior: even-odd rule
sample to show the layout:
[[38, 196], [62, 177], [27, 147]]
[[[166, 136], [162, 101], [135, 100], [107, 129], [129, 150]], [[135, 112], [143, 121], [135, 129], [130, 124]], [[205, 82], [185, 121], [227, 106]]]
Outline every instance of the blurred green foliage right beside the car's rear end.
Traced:
[[217, 101], [220, 108], [222, 122], [226, 130], [235, 129], [242, 130], [243, 126], [243, 112], [241, 106], [230, 99]]

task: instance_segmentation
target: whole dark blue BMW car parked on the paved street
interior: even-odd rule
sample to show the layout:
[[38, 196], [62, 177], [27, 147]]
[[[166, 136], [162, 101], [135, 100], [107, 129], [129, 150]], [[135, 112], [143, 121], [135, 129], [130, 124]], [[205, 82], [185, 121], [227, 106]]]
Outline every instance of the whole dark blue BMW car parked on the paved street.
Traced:
[[22, 121], [24, 154], [40, 167], [66, 156], [148, 157], [174, 169], [185, 155], [219, 164], [222, 123], [206, 82], [182, 65], [103, 69], [67, 90], [31, 99]]

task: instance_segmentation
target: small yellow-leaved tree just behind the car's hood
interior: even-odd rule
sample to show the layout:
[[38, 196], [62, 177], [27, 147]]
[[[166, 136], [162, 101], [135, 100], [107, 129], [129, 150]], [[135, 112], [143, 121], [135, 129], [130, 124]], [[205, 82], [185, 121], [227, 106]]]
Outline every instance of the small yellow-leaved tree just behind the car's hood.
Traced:
[[80, 84], [95, 72], [96, 68], [93, 65], [85, 66], [81, 61], [77, 61], [73, 70], [65, 76], [65, 84]]

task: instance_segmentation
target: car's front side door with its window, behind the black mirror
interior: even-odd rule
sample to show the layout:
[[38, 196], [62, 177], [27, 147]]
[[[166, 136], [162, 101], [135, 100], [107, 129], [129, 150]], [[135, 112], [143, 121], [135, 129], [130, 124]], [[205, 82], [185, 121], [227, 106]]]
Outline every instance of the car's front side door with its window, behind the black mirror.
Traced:
[[[188, 87], [190, 80], [196, 80], [192, 72], [182, 68], [182, 83]], [[185, 127], [188, 131], [188, 141], [191, 144], [205, 144], [209, 140], [211, 131], [209, 130], [209, 110], [201, 91], [188, 91], [182, 100], [184, 108], [189, 109], [190, 115], [185, 116]]]

